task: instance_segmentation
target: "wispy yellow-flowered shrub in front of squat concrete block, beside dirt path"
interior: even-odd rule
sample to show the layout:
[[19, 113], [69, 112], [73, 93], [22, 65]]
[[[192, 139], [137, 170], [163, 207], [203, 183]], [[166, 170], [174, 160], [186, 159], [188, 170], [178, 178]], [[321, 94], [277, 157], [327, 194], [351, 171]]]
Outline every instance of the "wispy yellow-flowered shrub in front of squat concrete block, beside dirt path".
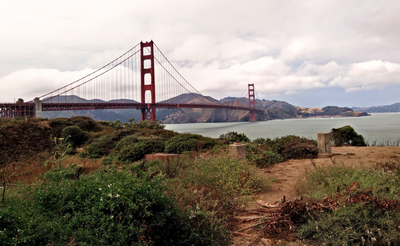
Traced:
[[198, 195], [193, 197], [194, 190], [209, 194], [209, 202], [216, 203], [213, 208], [216, 212], [219, 209], [231, 209], [238, 204], [238, 197], [242, 195], [268, 189], [265, 181], [257, 176], [254, 166], [228, 156], [202, 158], [184, 154], [179, 158], [151, 164], [151, 170], [161, 171], [169, 178], [167, 185], [183, 208], [195, 208], [199, 202]]

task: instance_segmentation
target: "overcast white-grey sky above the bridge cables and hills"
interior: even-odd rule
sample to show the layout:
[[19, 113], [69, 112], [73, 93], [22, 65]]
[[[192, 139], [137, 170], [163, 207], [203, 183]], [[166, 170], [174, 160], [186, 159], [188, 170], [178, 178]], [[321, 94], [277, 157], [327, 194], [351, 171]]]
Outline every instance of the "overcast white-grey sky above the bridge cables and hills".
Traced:
[[203, 95], [301, 107], [400, 102], [399, 0], [0, 2], [0, 102], [157, 44]]

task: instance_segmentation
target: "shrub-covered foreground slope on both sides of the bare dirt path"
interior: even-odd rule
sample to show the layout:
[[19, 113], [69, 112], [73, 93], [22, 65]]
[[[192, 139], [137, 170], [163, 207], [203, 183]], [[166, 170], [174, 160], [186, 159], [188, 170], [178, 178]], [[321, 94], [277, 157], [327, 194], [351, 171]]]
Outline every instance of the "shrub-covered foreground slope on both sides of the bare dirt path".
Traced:
[[[332, 159], [322, 167], [313, 139], [210, 138], [164, 128], [133, 118], [0, 119], [1, 244], [221, 246], [240, 245], [233, 235], [246, 233], [275, 237], [278, 245], [400, 243], [396, 163], [344, 168]], [[368, 144], [350, 126], [331, 134], [334, 146]], [[229, 155], [234, 142], [245, 144], [244, 160]], [[144, 159], [153, 152], [180, 155]], [[263, 174], [293, 159], [309, 159], [304, 179], [291, 184], [303, 200], [283, 197], [274, 216], [249, 208], [277, 182]], [[243, 221], [254, 224], [249, 232], [238, 232]]]

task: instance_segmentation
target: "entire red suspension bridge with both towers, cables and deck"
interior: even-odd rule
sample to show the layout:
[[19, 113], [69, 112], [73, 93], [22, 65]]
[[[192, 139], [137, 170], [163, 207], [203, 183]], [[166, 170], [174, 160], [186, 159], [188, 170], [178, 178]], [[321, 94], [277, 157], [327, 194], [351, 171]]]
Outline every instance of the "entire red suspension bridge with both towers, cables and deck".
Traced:
[[141, 120], [154, 121], [157, 108], [214, 108], [249, 111], [249, 120], [256, 121], [257, 113], [264, 111], [256, 108], [254, 84], [246, 90], [248, 107], [221, 104], [189, 84], [153, 41], [140, 42], [99, 70], [60, 89], [29, 102], [19, 99], [0, 104], [0, 117], [39, 118], [43, 111], [60, 110], [140, 109]]

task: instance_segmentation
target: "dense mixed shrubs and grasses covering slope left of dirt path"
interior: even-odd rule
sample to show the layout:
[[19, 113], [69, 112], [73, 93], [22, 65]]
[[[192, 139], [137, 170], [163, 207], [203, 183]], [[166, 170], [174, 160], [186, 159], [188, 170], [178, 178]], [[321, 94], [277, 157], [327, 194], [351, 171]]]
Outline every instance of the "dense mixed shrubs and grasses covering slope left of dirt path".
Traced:
[[[7, 136], [32, 155], [47, 152], [36, 181], [3, 189], [4, 244], [227, 245], [228, 216], [241, 201], [234, 198], [267, 189], [255, 167], [228, 157], [217, 139], [167, 131], [159, 121], [16, 118], [2, 120], [0, 130], [10, 150], [19, 145]], [[27, 136], [20, 140], [21, 134]], [[80, 146], [80, 163], [101, 159], [99, 170], [84, 173], [72, 161]], [[163, 151], [184, 154], [166, 162], [141, 160]], [[213, 155], [201, 158], [198, 152], [205, 151]], [[29, 158], [23, 151], [2, 154], [5, 170]]]

